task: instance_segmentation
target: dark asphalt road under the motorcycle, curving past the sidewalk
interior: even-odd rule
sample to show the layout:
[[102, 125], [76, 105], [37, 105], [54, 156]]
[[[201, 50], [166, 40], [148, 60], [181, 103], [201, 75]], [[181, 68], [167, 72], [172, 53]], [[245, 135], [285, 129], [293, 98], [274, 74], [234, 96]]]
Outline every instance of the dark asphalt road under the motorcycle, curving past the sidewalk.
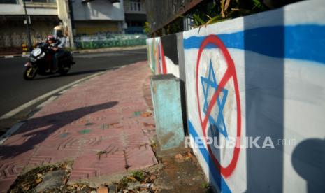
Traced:
[[68, 75], [36, 76], [31, 81], [22, 78], [23, 64], [27, 62], [27, 58], [0, 59], [0, 116], [80, 78], [146, 60], [147, 53], [144, 49], [126, 50], [75, 54], [73, 58], [76, 64]]

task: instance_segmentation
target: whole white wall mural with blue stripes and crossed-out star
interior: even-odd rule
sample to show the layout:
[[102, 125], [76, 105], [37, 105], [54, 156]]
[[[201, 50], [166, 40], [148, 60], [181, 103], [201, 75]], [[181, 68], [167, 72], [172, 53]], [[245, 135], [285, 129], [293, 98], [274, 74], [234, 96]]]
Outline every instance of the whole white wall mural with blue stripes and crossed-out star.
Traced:
[[190, 142], [217, 190], [325, 191], [324, 17], [303, 1], [183, 33]]

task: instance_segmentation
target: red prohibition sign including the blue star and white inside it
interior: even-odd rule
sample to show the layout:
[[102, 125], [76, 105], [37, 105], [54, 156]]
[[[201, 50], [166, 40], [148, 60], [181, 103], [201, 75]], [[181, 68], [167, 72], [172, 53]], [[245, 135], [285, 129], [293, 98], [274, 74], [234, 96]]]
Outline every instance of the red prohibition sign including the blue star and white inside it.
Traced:
[[[203, 52], [207, 49], [208, 45], [215, 45], [218, 48], [218, 50], [214, 50], [214, 52], [217, 52], [216, 55], [218, 55], [218, 57], [213, 58], [211, 56], [211, 54], [215, 55], [213, 51], [210, 52], [210, 56], [205, 55], [205, 58], [210, 57], [210, 62], [208, 64], [205, 64], [205, 62], [208, 61], [204, 61], [202, 65], [207, 66], [207, 68], [206, 69], [200, 68], [201, 56], [203, 55]], [[213, 60], [213, 64], [215, 65], [212, 64], [212, 60]], [[220, 64], [219, 63], [220, 60], [224, 61], [226, 65]], [[220, 71], [224, 71], [224, 72], [218, 73], [216, 76], [216, 72], [214, 69], [219, 69]], [[238, 91], [236, 69], [233, 64], [233, 59], [231, 59], [228, 50], [224, 46], [224, 43], [222, 43], [222, 41], [218, 38], [218, 36], [216, 35], [206, 36], [206, 38], [202, 41], [201, 46], [198, 50], [195, 78], [196, 78], [195, 79], [196, 100], [198, 105], [197, 108], [198, 117], [201, 122], [201, 129], [202, 129], [203, 136], [205, 138], [207, 135], [212, 138], [218, 137], [219, 140], [226, 141], [229, 139], [228, 135], [233, 133], [233, 137], [235, 138], [238, 137], [240, 140], [240, 130], [241, 130], [240, 129], [241, 128], [240, 96]], [[233, 81], [233, 83], [231, 83], [231, 80]], [[199, 82], [201, 84], [199, 84]], [[226, 102], [229, 103], [228, 101], [230, 100], [230, 99], [227, 100], [228, 93], [229, 93], [229, 98], [231, 97], [230, 94], [235, 95], [234, 98], [236, 102], [231, 101], [231, 103], [235, 104], [235, 106], [231, 106], [231, 109], [228, 109], [228, 111], [229, 110], [232, 111], [230, 115], [232, 115], [233, 112], [236, 112], [236, 116], [232, 116], [232, 117], [237, 117], [236, 124], [235, 124], [236, 129], [234, 129], [236, 132], [228, 132], [226, 122], [225, 122], [224, 107], [226, 105]], [[203, 99], [200, 99], [200, 95], [202, 97], [202, 94], [203, 94]], [[201, 101], [203, 101], [203, 103], [201, 103]], [[207, 128], [208, 124], [210, 124], [209, 128]], [[230, 125], [230, 123], [227, 125]], [[222, 173], [223, 176], [225, 177], [230, 176], [237, 164], [237, 159], [240, 150], [238, 145], [236, 145], [236, 147], [233, 148], [233, 150], [230, 150], [231, 151], [230, 154], [232, 153], [233, 155], [229, 160], [227, 160], [228, 164], [226, 164], [226, 162], [224, 162], [225, 163], [224, 164], [220, 162], [221, 160], [217, 159], [217, 157], [219, 157], [221, 152], [218, 152], [217, 149], [213, 151], [212, 145], [208, 145], [208, 144], [206, 145], [209, 154], [212, 156], [213, 162], [215, 163], [217, 168], [220, 169], [220, 173]]]

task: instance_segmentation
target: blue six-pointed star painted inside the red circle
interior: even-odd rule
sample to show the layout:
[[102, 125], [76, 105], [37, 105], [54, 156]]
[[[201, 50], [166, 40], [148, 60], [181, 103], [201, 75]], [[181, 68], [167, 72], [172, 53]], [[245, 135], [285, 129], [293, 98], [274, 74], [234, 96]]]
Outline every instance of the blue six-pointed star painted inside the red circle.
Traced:
[[[206, 114], [207, 110], [208, 110], [208, 105], [210, 103], [208, 101], [208, 94], [209, 94], [210, 87], [214, 88], [215, 90], [218, 89], [217, 79], [215, 77], [215, 71], [213, 70], [212, 61], [210, 61], [208, 78], [201, 76], [201, 83], [202, 83], [203, 94], [204, 94], [203, 112]], [[206, 85], [206, 88], [205, 88], [205, 85]], [[216, 131], [219, 131], [219, 133], [222, 134], [225, 138], [228, 138], [226, 124], [224, 123], [224, 115], [222, 114], [222, 112], [224, 110], [224, 105], [226, 103], [228, 90], [223, 88], [221, 90], [221, 92], [223, 92], [222, 99], [220, 99], [220, 94], [219, 94], [219, 96], [217, 96], [216, 105], [219, 108], [219, 113], [216, 117], [217, 120], [215, 120], [215, 117], [212, 117], [211, 115], [209, 115], [208, 120], [212, 127], [213, 136], [219, 136], [219, 134], [216, 133]]]

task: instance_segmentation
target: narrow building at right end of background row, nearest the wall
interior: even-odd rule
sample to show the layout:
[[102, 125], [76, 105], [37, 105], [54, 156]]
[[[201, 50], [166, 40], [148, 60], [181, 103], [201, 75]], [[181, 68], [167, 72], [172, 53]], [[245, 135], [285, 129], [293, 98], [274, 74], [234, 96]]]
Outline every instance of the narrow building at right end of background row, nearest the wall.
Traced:
[[147, 20], [145, 0], [124, 0], [125, 33], [143, 34]]

